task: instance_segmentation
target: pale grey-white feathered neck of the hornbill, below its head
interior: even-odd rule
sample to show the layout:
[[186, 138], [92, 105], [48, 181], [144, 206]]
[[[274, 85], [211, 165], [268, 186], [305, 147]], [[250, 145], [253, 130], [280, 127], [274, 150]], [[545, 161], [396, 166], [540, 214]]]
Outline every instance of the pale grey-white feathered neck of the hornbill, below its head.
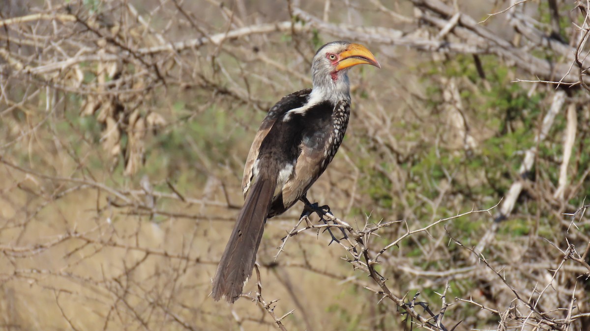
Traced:
[[350, 82], [345, 71], [333, 75], [314, 75], [308, 103], [331, 101], [337, 104], [342, 100], [350, 102]]

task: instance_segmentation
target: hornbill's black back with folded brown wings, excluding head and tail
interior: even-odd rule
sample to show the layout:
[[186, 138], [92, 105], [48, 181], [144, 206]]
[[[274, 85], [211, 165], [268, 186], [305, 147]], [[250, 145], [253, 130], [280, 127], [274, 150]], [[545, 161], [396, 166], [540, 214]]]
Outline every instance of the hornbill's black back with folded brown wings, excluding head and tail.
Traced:
[[244, 169], [244, 194], [258, 171], [256, 164], [281, 169], [268, 217], [284, 213], [326, 170], [344, 137], [348, 100], [312, 103], [310, 90], [287, 95], [270, 111], [254, 139]]

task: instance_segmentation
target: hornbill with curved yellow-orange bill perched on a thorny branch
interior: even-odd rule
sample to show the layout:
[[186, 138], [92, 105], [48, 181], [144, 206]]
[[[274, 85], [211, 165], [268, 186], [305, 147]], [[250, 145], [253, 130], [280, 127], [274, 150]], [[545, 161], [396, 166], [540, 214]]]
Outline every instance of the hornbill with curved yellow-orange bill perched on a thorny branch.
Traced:
[[228, 302], [252, 276], [264, 223], [289, 209], [326, 170], [344, 137], [350, 115], [348, 70], [357, 64], [381, 68], [363, 45], [335, 41], [313, 57], [313, 88], [283, 97], [254, 137], [244, 167], [245, 202], [221, 256], [212, 296]]

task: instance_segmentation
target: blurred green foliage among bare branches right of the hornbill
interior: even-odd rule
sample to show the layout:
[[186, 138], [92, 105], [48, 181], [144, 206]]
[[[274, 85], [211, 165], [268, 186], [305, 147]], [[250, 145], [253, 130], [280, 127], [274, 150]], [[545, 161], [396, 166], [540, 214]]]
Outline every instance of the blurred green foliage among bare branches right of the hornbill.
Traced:
[[[478, 74], [473, 57], [470, 55], [457, 55], [442, 63], [431, 62], [428, 68], [422, 68], [426, 72], [422, 75], [426, 94], [424, 104], [430, 112], [425, 121], [437, 123], [442, 120], [444, 111], [441, 104], [444, 100], [445, 86], [444, 83], [441, 84], [441, 81], [454, 79], [460, 91], [463, 111], [468, 114], [468, 123], [473, 130], [471, 134], [480, 139], [477, 153], [466, 153], [444, 142], [438, 143], [438, 131], [442, 129], [437, 124], [432, 124], [432, 127], [426, 129], [424, 125], [427, 124], [423, 123], [398, 124], [399, 131], [404, 134], [400, 140], [422, 139], [427, 140], [428, 143], [419, 144], [415, 152], [407, 157], [407, 161], [399, 166], [387, 162], [379, 163], [381, 171], [375, 170], [370, 162], [363, 162], [363, 160], [358, 162], [363, 173], [366, 174], [362, 186], [376, 206], [384, 209], [391, 208], [392, 214], [404, 210], [408, 205], [412, 206], [412, 213], [417, 220], [408, 221], [412, 221], [412, 224], [421, 222], [425, 225], [431, 221], [433, 214], [435, 219], [457, 214], [457, 208], [453, 207], [448, 200], [438, 205], [436, 209], [426, 202], [436, 201], [441, 194], [441, 187], [449, 186], [445, 194], [456, 198], [455, 206], [461, 207], [474, 206], [482, 200], [499, 201], [509, 189], [522, 164], [523, 151], [535, 144], [539, 123], [545, 114], [546, 107], [542, 103], [546, 96], [544, 92], [531, 93], [525, 84], [512, 82], [514, 80], [511, 77], [512, 68], [506, 67], [498, 59], [482, 56], [480, 60], [486, 74], [486, 82]], [[565, 125], [563, 120], [558, 120], [553, 130], [562, 130], [563, 125]], [[437, 143], [434, 142], [435, 140]], [[539, 157], [550, 158], [550, 155], [560, 155], [556, 150], [558, 148], [560, 144], [542, 144]], [[405, 187], [402, 188], [401, 193], [405, 203], [402, 203], [402, 197], [397, 195], [399, 193], [395, 192], [391, 177], [384, 175], [384, 173], [395, 173], [396, 167], [401, 167], [401, 173], [407, 175]], [[554, 174], [552, 176], [559, 174], [559, 163], [543, 163], [538, 167], [548, 167], [546, 173]], [[449, 183], [450, 177], [451, 183]], [[556, 181], [556, 178], [551, 179]], [[535, 209], [532, 206], [529, 208]], [[389, 215], [374, 216], [391, 219]], [[477, 242], [474, 240], [479, 234], [483, 235], [491, 219], [492, 217], [487, 219], [486, 217], [462, 217], [446, 223], [445, 226], [451, 233], [458, 236], [457, 239], [470, 245]], [[522, 237], [529, 235], [532, 231], [530, 221], [522, 219], [510, 219], [503, 224], [500, 227], [500, 235], [504, 236]], [[415, 228], [417, 226], [412, 226], [412, 229]], [[549, 230], [549, 227], [542, 227], [539, 233], [549, 234], [547, 233]], [[442, 226], [437, 226], [432, 231], [444, 230]], [[396, 231], [393, 233], [395, 234]], [[391, 242], [391, 238], [385, 236], [373, 240], [382, 241], [384, 244]], [[391, 250], [400, 250], [405, 257], [415, 257], [414, 261], [421, 261], [421, 264], [416, 266], [420, 270], [445, 270], [457, 267], [441, 266], [439, 261], [425, 259], [424, 247], [430, 240], [431, 237], [427, 234], [419, 239], [414, 236], [412, 240], [402, 240], [399, 248], [392, 247]], [[458, 249], [455, 245], [450, 245], [448, 251], [450, 254], [464, 253], [464, 250]], [[457, 257], [457, 260], [462, 259], [464, 257]], [[472, 283], [469, 279], [451, 282], [449, 291], [453, 294], [447, 294], [447, 296], [461, 296], [461, 289], [481, 286], [481, 284]], [[425, 289], [420, 294], [420, 298], [426, 302], [437, 302], [440, 300], [437, 293], [442, 292], [444, 288]], [[413, 295], [414, 293], [409, 293], [408, 297]], [[473, 309], [473, 307], [467, 309]], [[474, 309], [473, 315], [476, 313]], [[481, 325], [485, 325], [486, 322], [489, 321], [481, 321]]]

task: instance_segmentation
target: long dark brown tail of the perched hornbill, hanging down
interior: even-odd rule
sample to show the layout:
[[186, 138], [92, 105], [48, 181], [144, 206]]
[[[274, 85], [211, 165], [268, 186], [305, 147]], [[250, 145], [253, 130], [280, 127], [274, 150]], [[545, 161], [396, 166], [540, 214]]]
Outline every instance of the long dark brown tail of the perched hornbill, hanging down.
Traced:
[[278, 171], [266, 171], [255, 179], [248, 191], [213, 279], [212, 296], [215, 301], [223, 296], [230, 303], [238, 300], [244, 283], [252, 276], [277, 176]]

